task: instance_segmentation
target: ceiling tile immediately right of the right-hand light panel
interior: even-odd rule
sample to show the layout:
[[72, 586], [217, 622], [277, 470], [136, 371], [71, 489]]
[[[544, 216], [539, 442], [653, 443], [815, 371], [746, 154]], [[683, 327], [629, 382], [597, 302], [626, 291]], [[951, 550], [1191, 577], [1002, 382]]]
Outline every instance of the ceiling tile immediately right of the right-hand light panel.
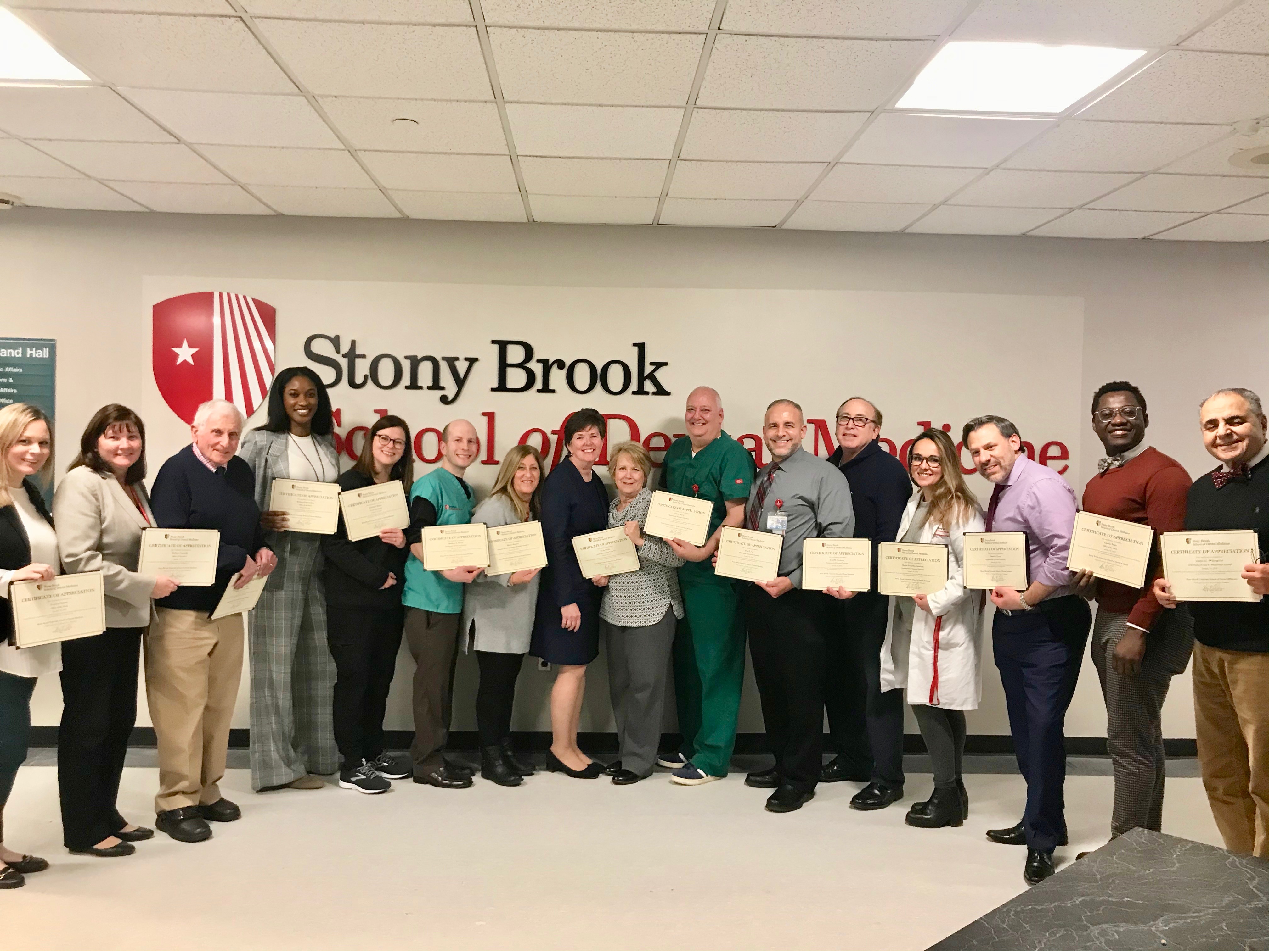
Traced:
[[1081, 119], [1231, 123], [1269, 113], [1269, 57], [1165, 53]]

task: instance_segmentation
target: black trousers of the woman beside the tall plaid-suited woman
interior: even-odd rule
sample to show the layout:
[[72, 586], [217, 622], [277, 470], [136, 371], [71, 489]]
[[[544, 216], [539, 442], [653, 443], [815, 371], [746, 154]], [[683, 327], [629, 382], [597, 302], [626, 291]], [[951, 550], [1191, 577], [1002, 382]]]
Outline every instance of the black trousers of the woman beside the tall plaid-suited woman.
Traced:
[[335, 744], [348, 768], [383, 752], [383, 713], [404, 625], [404, 607], [326, 605], [326, 643], [335, 658]]

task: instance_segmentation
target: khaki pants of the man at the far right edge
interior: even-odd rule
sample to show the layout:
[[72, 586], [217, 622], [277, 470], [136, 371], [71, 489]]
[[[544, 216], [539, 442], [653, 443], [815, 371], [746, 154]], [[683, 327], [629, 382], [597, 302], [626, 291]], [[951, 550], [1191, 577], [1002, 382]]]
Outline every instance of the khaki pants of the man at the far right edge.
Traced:
[[1269, 858], [1269, 653], [1194, 644], [1194, 729], [1225, 847]]

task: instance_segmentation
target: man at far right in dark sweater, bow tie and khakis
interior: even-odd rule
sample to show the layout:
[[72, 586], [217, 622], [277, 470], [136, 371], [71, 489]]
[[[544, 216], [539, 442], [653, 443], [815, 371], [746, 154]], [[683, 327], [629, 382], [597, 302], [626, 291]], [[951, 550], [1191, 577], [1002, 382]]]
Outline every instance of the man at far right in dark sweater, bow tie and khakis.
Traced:
[[[1199, 407], [1207, 451], [1221, 465], [1189, 491], [1185, 530], [1251, 529], [1269, 550], [1269, 446], [1260, 398], [1220, 389]], [[1259, 601], [1194, 601], [1194, 735], [1203, 787], [1225, 847], [1269, 858], [1269, 566], [1242, 571]], [[1155, 582], [1165, 607], [1176, 598]]]

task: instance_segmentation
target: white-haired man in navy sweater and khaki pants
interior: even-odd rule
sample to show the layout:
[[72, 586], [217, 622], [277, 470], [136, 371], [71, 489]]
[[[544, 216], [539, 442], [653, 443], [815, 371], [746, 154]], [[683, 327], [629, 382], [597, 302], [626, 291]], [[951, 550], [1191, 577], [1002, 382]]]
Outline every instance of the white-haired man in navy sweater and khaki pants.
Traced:
[[216, 583], [181, 586], [155, 602], [146, 634], [146, 694], [159, 747], [156, 825], [179, 842], [211, 838], [208, 822], [233, 822], [221, 795], [230, 718], [242, 676], [244, 619], [209, 620], [235, 574], [235, 587], [277, 564], [264, 544], [251, 467], [235, 456], [242, 413], [211, 399], [198, 407], [190, 445], [162, 464], [150, 503], [164, 529], [216, 529]]

